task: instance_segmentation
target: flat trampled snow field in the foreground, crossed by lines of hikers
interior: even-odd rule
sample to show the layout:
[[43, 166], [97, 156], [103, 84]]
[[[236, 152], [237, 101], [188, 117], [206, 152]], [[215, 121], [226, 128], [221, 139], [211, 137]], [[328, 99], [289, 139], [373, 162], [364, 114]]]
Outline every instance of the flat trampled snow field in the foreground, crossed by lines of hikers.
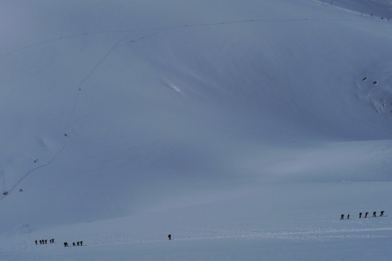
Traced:
[[[392, 183], [273, 184], [217, 202], [80, 223], [1, 240], [4, 260], [356, 260], [388, 258]], [[325, 195], [331, 194], [330, 197]], [[332, 204], [331, 202], [334, 202]], [[384, 217], [358, 213], [385, 211]], [[378, 210], [380, 209], [380, 210]], [[350, 219], [340, 220], [340, 214]], [[172, 241], [167, 235], [172, 234]], [[55, 237], [55, 244], [35, 245]], [[11, 240], [10, 240], [11, 239]], [[83, 240], [85, 246], [64, 248]], [[377, 249], [372, 251], [371, 249]], [[173, 251], [175, 249], [175, 251]], [[146, 252], [147, 251], [147, 252]], [[21, 254], [22, 253], [22, 254]], [[28, 257], [28, 258], [27, 258]], [[24, 259], [20, 259], [24, 260]]]

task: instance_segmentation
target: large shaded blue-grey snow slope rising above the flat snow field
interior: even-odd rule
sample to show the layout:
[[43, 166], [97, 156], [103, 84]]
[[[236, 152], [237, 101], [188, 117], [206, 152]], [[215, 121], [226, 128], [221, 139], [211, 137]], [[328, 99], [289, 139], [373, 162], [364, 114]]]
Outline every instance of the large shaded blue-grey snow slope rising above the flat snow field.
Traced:
[[0, 17], [2, 233], [266, 180], [391, 181], [385, 20], [305, 0], [6, 1]]

